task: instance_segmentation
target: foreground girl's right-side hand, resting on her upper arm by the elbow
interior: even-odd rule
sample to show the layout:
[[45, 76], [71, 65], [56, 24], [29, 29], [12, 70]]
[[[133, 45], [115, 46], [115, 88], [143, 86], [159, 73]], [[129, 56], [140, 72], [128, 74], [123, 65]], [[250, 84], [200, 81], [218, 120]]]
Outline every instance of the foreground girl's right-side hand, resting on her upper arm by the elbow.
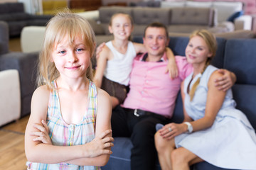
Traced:
[[101, 154], [112, 154], [110, 147], [113, 147], [114, 138], [110, 135], [112, 130], [105, 130], [99, 136], [95, 137], [94, 140], [85, 144], [85, 157], [97, 157]]

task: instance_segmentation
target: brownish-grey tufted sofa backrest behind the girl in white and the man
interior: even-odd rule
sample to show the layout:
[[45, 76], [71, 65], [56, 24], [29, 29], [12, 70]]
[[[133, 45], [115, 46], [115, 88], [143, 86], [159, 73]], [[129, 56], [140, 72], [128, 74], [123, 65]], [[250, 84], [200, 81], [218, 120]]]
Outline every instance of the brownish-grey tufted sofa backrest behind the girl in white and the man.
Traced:
[[[134, 20], [132, 35], [143, 35], [144, 28], [154, 21], [164, 23], [169, 31], [178, 30], [191, 33], [196, 28], [209, 28], [215, 26], [215, 10], [213, 8], [153, 8], [153, 7], [127, 7], [102, 6], [99, 9], [100, 23], [105, 34], [110, 34], [108, 24], [114, 13], [128, 13]], [[176, 26], [181, 28], [176, 28]], [[191, 28], [191, 29], [190, 29]]]

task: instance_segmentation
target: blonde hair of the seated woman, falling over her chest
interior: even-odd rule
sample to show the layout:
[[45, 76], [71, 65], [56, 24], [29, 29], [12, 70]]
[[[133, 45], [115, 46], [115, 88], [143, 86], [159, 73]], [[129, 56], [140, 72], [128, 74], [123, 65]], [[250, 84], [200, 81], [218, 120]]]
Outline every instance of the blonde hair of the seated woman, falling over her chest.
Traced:
[[[189, 39], [191, 40], [191, 38], [193, 38], [195, 36], [199, 36], [199, 37], [203, 38], [203, 40], [206, 42], [209, 52], [212, 53], [211, 57], [208, 57], [206, 60], [206, 64], [203, 67], [203, 70], [201, 72], [201, 74], [203, 74], [203, 72], [206, 70], [206, 67], [208, 67], [208, 65], [210, 64], [210, 61], [213, 60], [213, 57], [216, 55], [218, 44], [217, 44], [216, 38], [213, 35], [213, 33], [210, 33], [208, 30], [195, 30], [190, 35]], [[196, 88], [199, 83], [200, 83], [200, 78], [198, 78], [196, 80], [196, 82], [193, 84], [191, 90], [189, 91], [189, 96], [190, 96], [191, 101], [193, 100], [193, 96], [195, 95]]]

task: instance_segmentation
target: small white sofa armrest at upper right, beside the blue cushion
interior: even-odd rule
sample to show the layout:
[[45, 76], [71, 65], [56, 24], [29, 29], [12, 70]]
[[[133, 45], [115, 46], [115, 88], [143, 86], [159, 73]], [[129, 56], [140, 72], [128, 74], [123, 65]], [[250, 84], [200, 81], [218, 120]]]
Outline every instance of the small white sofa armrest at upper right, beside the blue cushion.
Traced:
[[235, 30], [252, 30], [252, 16], [240, 16], [235, 18]]

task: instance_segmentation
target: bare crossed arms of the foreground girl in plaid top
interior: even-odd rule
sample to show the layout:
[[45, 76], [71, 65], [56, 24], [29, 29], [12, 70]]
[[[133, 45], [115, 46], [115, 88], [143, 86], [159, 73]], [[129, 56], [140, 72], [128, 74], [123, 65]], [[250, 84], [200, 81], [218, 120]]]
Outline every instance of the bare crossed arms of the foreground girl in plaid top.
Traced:
[[[106, 106], [101, 106], [105, 109], [110, 107], [107, 104], [107, 95], [103, 96], [102, 99], [99, 99], [99, 108], [102, 101], [106, 102]], [[104, 97], [105, 96], [105, 97]], [[25, 132], [25, 152], [26, 157], [29, 162], [40, 162], [44, 164], [57, 164], [60, 162], [74, 162], [78, 165], [93, 165], [93, 166], [102, 166], [107, 163], [109, 159], [109, 154], [112, 154], [110, 147], [112, 147], [113, 138], [111, 137], [110, 130], [110, 118], [109, 121], [106, 120], [106, 123], [100, 126], [100, 130], [96, 130], [95, 140], [89, 142], [85, 145], [75, 145], [70, 147], [63, 146], [54, 146], [49, 144], [44, 144], [43, 142], [34, 141], [33, 135], [31, 132], [40, 132], [37, 128], [34, 127], [35, 124], [41, 125], [41, 120], [46, 120], [47, 109], [48, 109], [48, 98], [49, 91], [46, 86], [42, 86], [33, 94], [32, 103], [31, 103], [31, 117], [28, 120], [28, 125]], [[100, 98], [100, 97], [99, 97]], [[101, 101], [101, 102], [100, 102]], [[110, 103], [110, 101], [109, 101]], [[111, 107], [110, 107], [111, 108]], [[99, 109], [99, 112], [100, 113]], [[108, 110], [107, 110], [108, 111]], [[106, 112], [105, 112], [106, 113]], [[111, 112], [107, 112], [107, 117], [110, 117]], [[97, 115], [98, 118], [98, 115]], [[101, 122], [99, 118], [99, 122]], [[108, 123], [109, 122], [109, 123]], [[96, 123], [96, 129], [100, 123]], [[47, 138], [47, 137], [46, 137]], [[97, 160], [98, 156], [100, 159]]]

